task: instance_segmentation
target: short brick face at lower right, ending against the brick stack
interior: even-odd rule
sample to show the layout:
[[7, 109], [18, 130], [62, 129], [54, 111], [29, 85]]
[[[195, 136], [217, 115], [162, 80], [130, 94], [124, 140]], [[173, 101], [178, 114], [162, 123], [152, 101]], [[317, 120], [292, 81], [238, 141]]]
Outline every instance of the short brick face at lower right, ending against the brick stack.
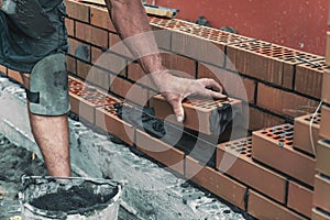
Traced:
[[311, 218], [312, 190], [290, 182], [288, 187], [287, 206], [295, 211]]

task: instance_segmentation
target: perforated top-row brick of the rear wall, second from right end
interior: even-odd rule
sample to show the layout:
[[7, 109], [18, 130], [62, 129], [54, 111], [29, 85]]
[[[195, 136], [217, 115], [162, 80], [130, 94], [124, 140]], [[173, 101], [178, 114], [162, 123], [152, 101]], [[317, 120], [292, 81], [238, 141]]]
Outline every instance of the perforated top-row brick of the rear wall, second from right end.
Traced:
[[320, 56], [262, 41], [229, 45], [227, 55], [239, 73], [293, 88], [295, 66]]

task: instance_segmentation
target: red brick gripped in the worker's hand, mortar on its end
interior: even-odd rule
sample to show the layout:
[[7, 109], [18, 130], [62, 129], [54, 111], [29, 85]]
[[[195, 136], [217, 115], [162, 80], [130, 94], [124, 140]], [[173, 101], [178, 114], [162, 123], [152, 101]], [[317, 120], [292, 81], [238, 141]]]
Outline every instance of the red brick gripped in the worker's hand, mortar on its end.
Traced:
[[[172, 106], [161, 95], [152, 97], [150, 105], [155, 109], [156, 118], [166, 118], [169, 122], [177, 124]], [[241, 105], [242, 101], [232, 98], [224, 100], [188, 98], [183, 102], [184, 127], [205, 134], [217, 134], [221, 130], [221, 122], [228, 124], [237, 113], [241, 113]]]

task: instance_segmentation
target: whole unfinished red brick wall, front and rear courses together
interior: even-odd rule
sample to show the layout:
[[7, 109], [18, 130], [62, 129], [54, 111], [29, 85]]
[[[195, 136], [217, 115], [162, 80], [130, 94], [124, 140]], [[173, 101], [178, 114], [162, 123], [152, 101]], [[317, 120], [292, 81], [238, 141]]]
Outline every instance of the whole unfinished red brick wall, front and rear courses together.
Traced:
[[[119, 36], [105, 8], [73, 0], [66, 3], [73, 112], [258, 219], [327, 216], [319, 209], [312, 212], [311, 208], [315, 184], [319, 189], [329, 187], [324, 176], [318, 174], [315, 178], [315, 166], [317, 163], [317, 167], [323, 166], [320, 168], [323, 174], [329, 168], [327, 163], [316, 162], [309, 144], [304, 145], [310, 141], [306, 140], [310, 116], [305, 114], [315, 111], [321, 94], [329, 103], [329, 92], [324, 87], [321, 89], [321, 84], [330, 80], [327, 70], [323, 73], [324, 57], [180, 20], [151, 18], [153, 30], [164, 30], [162, 34], [156, 33], [156, 41], [164, 52], [165, 66], [194, 78], [215, 78], [234, 98], [242, 98], [239, 92], [235, 94], [240, 84], [231, 77], [221, 76], [239, 74], [241, 85], [246, 89], [243, 101], [250, 106], [250, 130], [272, 127], [254, 132], [252, 139], [212, 146], [216, 150], [216, 165], [204, 166], [183, 150], [118, 118], [113, 103], [124, 98], [133, 85], [133, 95], [130, 96], [133, 102], [148, 99], [154, 90], [125, 47], [108, 50], [119, 42]], [[221, 53], [220, 56], [209, 56], [217, 52], [227, 56]], [[22, 82], [16, 72], [6, 67], [0, 67], [0, 70]], [[327, 107], [323, 109], [324, 119], [330, 111]], [[304, 118], [297, 118], [300, 116]], [[295, 118], [298, 131], [295, 134], [290, 124], [273, 127], [294, 122]], [[322, 122], [314, 122], [314, 135], [317, 139], [320, 132], [327, 139], [328, 130], [322, 130], [328, 125], [323, 121], [324, 125], [320, 129], [319, 123]], [[329, 148], [328, 143], [320, 144], [324, 146], [322, 150]], [[221, 160], [224, 154], [237, 157], [237, 161], [223, 173]], [[328, 197], [316, 193], [320, 199], [315, 205], [329, 210]]]

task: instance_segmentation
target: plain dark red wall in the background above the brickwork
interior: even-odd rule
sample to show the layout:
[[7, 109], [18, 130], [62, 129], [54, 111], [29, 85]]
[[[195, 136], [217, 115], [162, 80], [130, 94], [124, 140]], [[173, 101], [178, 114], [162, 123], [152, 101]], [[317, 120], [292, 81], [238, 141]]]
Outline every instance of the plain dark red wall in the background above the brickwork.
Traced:
[[[150, 2], [151, 0], [148, 0]], [[329, 0], [155, 0], [179, 9], [178, 19], [205, 15], [213, 28], [324, 55]]]

